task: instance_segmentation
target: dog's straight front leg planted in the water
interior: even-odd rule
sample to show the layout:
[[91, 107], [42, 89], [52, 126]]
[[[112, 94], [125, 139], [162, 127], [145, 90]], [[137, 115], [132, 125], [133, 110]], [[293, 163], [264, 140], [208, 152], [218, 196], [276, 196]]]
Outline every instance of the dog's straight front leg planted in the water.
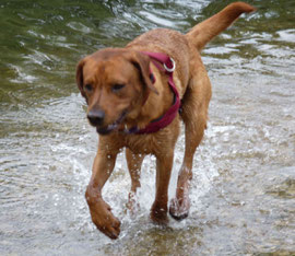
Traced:
[[168, 186], [173, 167], [174, 152], [157, 156], [156, 159], [156, 194], [151, 209], [151, 219], [160, 224], [166, 224]]

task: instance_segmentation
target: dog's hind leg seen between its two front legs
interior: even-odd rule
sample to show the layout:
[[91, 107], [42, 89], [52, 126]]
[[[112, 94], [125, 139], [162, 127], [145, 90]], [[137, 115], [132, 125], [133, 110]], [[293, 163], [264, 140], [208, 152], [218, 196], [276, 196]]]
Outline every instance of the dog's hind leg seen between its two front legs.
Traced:
[[141, 165], [144, 156], [144, 154], [135, 154], [130, 149], [126, 149], [126, 160], [131, 177], [131, 190], [129, 193], [127, 207], [131, 211], [133, 211], [134, 208], [134, 196], [140, 187]]

